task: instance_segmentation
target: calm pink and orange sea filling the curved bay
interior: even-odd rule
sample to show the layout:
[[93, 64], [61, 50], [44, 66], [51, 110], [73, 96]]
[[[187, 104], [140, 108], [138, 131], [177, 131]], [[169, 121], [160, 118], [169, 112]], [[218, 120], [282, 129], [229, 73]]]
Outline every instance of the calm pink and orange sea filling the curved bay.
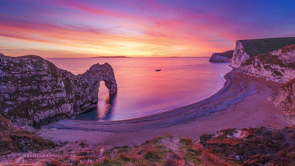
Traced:
[[[82, 74], [93, 64], [112, 65], [118, 92], [100, 83], [97, 109], [75, 119], [112, 121], [142, 117], [188, 105], [218, 92], [229, 63], [209, 58], [47, 58], [57, 67]], [[161, 69], [161, 71], [155, 71]], [[223, 79], [222, 79], [223, 78]]]

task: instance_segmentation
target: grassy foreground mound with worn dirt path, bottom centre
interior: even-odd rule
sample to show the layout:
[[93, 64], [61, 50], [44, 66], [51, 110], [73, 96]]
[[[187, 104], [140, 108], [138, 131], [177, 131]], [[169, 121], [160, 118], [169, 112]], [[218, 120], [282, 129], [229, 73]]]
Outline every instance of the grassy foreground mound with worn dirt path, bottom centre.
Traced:
[[227, 165], [191, 138], [155, 137], [140, 146], [115, 147], [99, 165]]

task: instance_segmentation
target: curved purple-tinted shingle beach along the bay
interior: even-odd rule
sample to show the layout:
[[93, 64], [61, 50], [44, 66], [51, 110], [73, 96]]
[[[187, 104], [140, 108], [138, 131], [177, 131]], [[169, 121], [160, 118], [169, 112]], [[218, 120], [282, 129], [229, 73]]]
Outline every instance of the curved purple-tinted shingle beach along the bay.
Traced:
[[227, 128], [292, 126], [280, 117], [286, 114], [267, 100], [283, 84], [237, 73], [235, 69], [225, 78], [224, 88], [201, 102], [120, 121], [64, 120], [44, 127], [39, 135], [57, 143], [86, 141], [93, 146], [134, 146], [166, 133], [196, 141], [202, 134]]

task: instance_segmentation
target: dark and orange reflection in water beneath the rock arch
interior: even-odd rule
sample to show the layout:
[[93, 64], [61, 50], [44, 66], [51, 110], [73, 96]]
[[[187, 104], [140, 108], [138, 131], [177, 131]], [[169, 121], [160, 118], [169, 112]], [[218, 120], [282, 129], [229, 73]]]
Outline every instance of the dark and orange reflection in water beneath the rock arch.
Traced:
[[117, 92], [113, 94], [109, 94], [109, 97], [106, 99], [103, 106], [101, 104], [97, 104], [97, 118], [98, 120], [109, 120], [114, 113], [116, 105]]

